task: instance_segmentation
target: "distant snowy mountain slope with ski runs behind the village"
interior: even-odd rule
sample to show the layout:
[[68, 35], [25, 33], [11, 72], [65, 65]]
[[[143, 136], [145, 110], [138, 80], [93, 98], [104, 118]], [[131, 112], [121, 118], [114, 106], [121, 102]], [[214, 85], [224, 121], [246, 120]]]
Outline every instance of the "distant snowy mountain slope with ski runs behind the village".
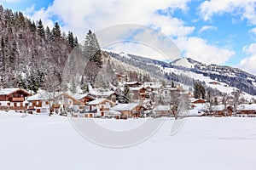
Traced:
[[131, 65], [147, 71], [151, 77], [165, 78], [189, 87], [193, 87], [194, 82], [198, 80], [219, 92], [230, 94], [234, 89], [240, 89], [248, 98], [256, 95], [256, 77], [230, 66], [206, 65], [190, 58], [176, 59], [166, 63], [123, 52], [108, 50], [106, 53], [113, 59], [125, 63], [126, 67]]

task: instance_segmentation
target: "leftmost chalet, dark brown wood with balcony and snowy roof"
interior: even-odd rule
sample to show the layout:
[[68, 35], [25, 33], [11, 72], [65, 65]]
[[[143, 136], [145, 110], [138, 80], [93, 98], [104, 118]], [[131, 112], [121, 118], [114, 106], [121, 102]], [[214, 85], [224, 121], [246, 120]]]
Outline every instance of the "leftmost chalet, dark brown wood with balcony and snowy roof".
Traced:
[[26, 97], [30, 94], [21, 88], [3, 88], [0, 90], [0, 110], [26, 111]]

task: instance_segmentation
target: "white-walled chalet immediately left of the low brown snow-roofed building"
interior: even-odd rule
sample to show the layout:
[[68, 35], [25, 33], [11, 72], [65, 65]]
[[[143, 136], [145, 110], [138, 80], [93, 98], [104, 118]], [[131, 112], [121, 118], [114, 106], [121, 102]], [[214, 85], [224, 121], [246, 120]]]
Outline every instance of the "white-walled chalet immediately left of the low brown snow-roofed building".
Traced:
[[115, 103], [109, 99], [101, 98], [90, 101], [86, 105], [89, 106], [89, 110], [86, 111], [86, 108], [84, 108], [84, 112], [81, 112], [84, 114], [84, 117], [101, 117], [107, 116], [110, 108], [112, 108]]

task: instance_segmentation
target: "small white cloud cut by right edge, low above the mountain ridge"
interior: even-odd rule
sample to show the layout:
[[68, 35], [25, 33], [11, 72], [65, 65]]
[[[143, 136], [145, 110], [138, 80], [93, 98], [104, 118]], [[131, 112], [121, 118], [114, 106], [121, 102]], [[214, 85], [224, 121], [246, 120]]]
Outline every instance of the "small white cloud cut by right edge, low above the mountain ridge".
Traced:
[[245, 46], [243, 48], [243, 52], [247, 54], [247, 57], [241, 59], [239, 65], [237, 66], [244, 71], [248, 71], [256, 75], [256, 43]]

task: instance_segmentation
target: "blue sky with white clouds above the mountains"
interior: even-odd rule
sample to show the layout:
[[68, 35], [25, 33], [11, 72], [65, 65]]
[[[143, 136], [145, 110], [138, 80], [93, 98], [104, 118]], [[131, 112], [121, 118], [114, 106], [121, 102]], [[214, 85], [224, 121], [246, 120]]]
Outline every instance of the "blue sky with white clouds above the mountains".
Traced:
[[[120, 24], [149, 26], [170, 37], [185, 57], [256, 74], [256, 0], [0, 2], [3, 8], [23, 11], [33, 20], [42, 19], [44, 26], [58, 21], [64, 31], [73, 31], [81, 42], [89, 29], [97, 32]], [[112, 48], [152, 56], [149, 46], [136, 46], [119, 43]]]

